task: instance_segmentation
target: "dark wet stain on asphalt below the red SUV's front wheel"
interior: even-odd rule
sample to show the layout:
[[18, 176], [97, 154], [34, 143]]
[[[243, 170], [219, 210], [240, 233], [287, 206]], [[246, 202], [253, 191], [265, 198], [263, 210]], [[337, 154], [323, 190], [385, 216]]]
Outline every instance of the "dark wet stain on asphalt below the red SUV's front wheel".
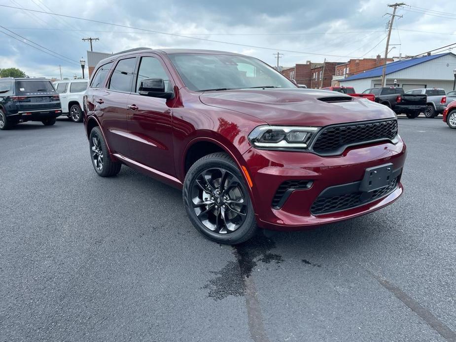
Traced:
[[208, 296], [214, 300], [221, 300], [228, 296], [244, 296], [248, 278], [258, 262], [280, 264], [281, 255], [271, 253], [276, 246], [273, 240], [259, 233], [252, 239], [233, 246], [237, 262], [230, 261], [223, 269], [211, 272], [217, 275], [209, 280], [203, 289], [208, 289]]

